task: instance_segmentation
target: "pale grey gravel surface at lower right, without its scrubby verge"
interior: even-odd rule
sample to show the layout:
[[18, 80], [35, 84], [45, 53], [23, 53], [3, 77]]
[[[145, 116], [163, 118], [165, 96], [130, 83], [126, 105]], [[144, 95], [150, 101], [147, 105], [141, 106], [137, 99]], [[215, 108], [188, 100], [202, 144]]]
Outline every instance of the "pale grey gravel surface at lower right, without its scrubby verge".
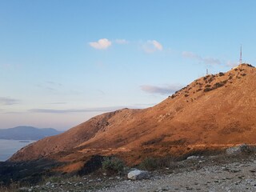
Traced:
[[234, 162], [153, 176], [143, 181], [125, 180], [97, 191], [256, 191], [255, 163]]

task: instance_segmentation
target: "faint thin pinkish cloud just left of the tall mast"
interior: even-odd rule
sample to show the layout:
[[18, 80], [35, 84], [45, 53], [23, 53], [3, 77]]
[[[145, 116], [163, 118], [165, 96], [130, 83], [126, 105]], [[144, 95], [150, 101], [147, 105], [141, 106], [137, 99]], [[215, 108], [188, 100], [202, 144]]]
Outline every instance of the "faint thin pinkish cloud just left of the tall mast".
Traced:
[[216, 64], [219, 65], [222, 63], [218, 58], [203, 58], [200, 55], [194, 54], [193, 52], [190, 52], [190, 51], [183, 51], [182, 57], [194, 59], [194, 60], [197, 60], [198, 62], [202, 62], [206, 65], [216, 65]]

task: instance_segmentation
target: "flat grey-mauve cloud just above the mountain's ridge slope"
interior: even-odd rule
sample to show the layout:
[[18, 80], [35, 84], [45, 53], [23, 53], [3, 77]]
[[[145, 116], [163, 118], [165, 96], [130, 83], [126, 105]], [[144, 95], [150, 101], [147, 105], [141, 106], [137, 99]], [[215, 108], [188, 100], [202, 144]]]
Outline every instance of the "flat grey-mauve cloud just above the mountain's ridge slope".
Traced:
[[167, 85], [167, 86], [140, 86], [141, 90], [150, 94], [173, 94], [176, 90], [182, 88], [181, 85]]

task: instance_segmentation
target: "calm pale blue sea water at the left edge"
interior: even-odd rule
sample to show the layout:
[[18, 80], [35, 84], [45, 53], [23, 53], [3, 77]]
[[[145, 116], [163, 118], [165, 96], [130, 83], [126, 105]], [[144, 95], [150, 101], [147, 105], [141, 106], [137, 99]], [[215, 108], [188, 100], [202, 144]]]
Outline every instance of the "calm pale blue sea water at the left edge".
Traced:
[[22, 142], [19, 140], [6, 140], [0, 139], [0, 162], [6, 161], [10, 158], [17, 150], [22, 149], [23, 146], [27, 146], [35, 141]]

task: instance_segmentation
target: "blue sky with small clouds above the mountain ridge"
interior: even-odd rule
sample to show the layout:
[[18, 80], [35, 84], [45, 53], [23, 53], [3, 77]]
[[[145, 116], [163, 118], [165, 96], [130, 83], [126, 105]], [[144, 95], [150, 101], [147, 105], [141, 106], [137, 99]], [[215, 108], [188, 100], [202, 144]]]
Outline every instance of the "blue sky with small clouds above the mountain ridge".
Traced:
[[0, 129], [67, 130], [256, 65], [254, 0], [0, 0]]

